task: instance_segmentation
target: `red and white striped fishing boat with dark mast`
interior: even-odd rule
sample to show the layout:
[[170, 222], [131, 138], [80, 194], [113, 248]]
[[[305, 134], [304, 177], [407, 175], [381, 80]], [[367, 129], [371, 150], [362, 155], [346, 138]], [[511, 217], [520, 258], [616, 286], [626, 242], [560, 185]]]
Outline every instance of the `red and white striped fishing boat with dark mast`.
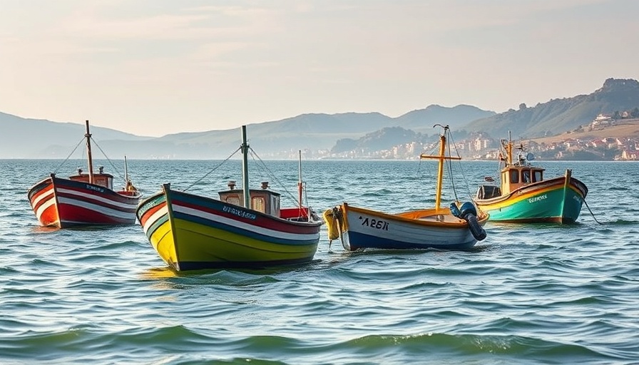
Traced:
[[58, 178], [55, 173], [29, 189], [31, 207], [44, 227], [66, 228], [78, 225], [133, 225], [142, 194], [133, 186], [126, 172], [125, 187], [113, 190], [113, 175], [98, 168], [93, 173], [91, 133], [86, 120], [88, 171]]

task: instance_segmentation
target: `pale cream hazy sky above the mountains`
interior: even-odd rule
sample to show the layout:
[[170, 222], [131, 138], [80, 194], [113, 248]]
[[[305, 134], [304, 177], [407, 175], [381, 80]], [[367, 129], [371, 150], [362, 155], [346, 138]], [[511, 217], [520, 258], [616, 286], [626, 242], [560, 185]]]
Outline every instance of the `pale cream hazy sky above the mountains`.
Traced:
[[0, 112], [161, 136], [639, 79], [636, 0], [0, 0]]

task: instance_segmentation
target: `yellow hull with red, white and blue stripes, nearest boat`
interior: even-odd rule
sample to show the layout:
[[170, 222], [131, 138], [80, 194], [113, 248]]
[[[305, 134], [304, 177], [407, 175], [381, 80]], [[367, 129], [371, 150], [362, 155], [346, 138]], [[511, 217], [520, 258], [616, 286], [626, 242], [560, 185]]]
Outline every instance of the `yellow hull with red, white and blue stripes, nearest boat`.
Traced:
[[138, 219], [158, 255], [178, 271], [310, 262], [322, 222], [295, 222], [164, 187]]

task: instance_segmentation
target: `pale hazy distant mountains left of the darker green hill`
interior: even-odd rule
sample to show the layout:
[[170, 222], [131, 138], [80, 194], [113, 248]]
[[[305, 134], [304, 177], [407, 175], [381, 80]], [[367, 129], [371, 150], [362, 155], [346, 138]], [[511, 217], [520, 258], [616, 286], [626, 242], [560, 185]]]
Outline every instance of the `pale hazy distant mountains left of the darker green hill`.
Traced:
[[[312, 113], [247, 125], [247, 137], [262, 158], [282, 158], [297, 150], [329, 150], [337, 140], [359, 139], [384, 128], [406, 124], [435, 134], [434, 123], [457, 128], [488, 115], [494, 112], [474, 106], [429, 106], [398, 118], [380, 113]], [[56, 123], [5, 113], [0, 113], [0, 128], [6, 131], [0, 138], [0, 158], [66, 158], [84, 135], [81, 123]], [[91, 133], [112, 158], [227, 158], [240, 145], [240, 128], [150, 138], [92, 125]]]

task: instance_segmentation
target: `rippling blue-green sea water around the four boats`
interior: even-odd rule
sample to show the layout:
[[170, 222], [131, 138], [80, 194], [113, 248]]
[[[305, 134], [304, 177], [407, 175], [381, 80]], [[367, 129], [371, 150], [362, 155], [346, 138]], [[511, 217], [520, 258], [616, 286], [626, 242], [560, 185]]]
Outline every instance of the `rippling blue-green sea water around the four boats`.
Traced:
[[[121, 160], [99, 163], [123, 175]], [[265, 163], [252, 163], [252, 186], [296, 196], [297, 161]], [[219, 164], [128, 170], [146, 194], [172, 183], [215, 195], [241, 181], [239, 161]], [[469, 252], [329, 250], [324, 227], [311, 264], [186, 274], [139, 225], [39, 227], [26, 190], [84, 162], [60, 165], [0, 160], [2, 364], [639, 364], [637, 163], [542, 163], [547, 178], [572, 168], [588, 185], [578, 224], [489, 222]], [[497, 170], [454, 166], [460, 200]], [[302, 174], [320, 213], [343, 200], [434, 205], [431, 162], [305, 161]], [[452, 199], [446, 185], [443, 204]]]

